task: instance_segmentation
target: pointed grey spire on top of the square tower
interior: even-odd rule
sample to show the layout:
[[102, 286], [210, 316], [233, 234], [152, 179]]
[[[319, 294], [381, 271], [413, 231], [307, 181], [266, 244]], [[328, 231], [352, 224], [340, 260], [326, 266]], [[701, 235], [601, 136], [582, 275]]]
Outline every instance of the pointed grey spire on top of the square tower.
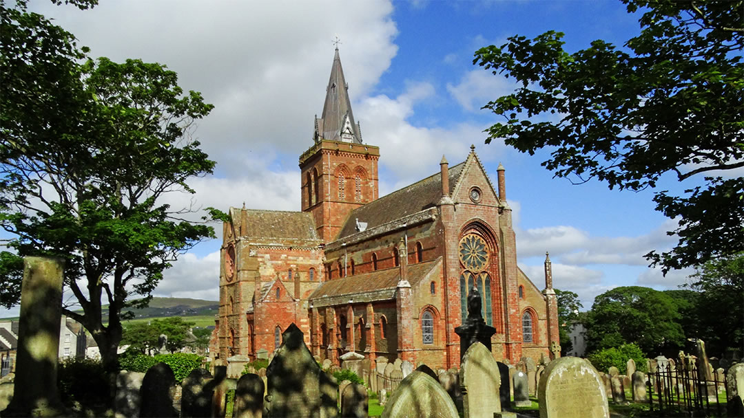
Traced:
[[354, 121], [354, 114], [351, 111], [348, 88], [344, 79], [344, 70], [341, 68], [341, 57], [337, 45], [326, 88], [323, 114], [315, 123], [316, 142], [322, 138], [346, 143], [362, 143], [359, 125]]

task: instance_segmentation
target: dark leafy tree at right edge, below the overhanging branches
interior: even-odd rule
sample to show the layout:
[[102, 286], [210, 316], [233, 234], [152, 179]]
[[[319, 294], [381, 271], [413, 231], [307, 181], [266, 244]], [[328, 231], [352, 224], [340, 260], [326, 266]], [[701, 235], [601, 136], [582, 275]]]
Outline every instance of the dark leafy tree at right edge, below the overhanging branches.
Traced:
[[705, 341], [708, 353], [744, 347], [744, 252], [718, 258], [696, 268], [687, 287], [698, 290], [698, 328], [688, 335]]

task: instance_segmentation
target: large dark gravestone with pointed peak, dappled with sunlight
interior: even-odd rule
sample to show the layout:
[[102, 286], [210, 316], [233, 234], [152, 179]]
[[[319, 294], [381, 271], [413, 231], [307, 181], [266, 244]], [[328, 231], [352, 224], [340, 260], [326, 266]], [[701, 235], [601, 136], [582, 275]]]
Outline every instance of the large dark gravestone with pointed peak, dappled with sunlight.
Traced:
[[325, 381], [326, 373], [312, 358], [303, 333], [295, 324], [282, 334], [282, 344], [266, 369], [266, 377], [268, 417], [318, 417], [321, 410], [336, 410], [338, 389], [321, 391], [321, 385], [330, 382]]

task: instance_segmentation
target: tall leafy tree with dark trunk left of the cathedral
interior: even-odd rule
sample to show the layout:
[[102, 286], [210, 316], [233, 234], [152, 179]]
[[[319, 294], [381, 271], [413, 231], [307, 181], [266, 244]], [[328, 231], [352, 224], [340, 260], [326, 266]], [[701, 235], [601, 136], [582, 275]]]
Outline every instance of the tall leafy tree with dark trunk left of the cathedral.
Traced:
[[[214, 237], [181, 218], [190, 208], [161, 201], [193, 193], [187, 180], [214, 169], [190, 138], [212, 105], [184, 94], [164, 65], [92, 61], [23, 4], [0, 7], [0, 226], [16, 255], [65, 259], [65, 286], [83, 313], [63, 310], [114, 373], [122, 309], [146, 306], [170, 262]], [[0, 271], [12, 270], [5, 261]]]

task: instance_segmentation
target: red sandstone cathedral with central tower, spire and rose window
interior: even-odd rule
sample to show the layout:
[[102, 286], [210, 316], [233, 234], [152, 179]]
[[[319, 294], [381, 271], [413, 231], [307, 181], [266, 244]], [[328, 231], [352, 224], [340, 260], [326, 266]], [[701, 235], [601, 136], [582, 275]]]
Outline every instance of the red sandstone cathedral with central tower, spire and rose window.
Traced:
[[497, 360], [559, 356], [550, 260], [543, 290], [517, 267], [504, 167], [493, 184], [471, 146], [461, 163], [442, 157], [434, 174], [379, 197], [381, 150], [362, 141], [347, 87], [336, 49], [299, 159], [301, 211], [230, 208], [212, 356], [256, 359], [295, 323], [335, 364], [353, 351], [458, 367], [455, 327], [474, 289]]

